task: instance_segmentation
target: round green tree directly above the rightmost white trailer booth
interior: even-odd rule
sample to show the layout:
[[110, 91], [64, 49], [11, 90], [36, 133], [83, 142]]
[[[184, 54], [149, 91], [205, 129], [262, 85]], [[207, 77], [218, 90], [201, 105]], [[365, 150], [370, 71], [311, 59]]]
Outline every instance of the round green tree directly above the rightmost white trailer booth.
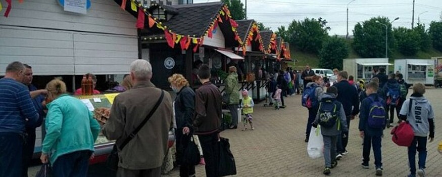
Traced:
[[421, 36], [417, 30], [405, 27], [395, 28], [393, 30], [395, 41], [399, 52], [406, 56], [414, 56], [421, 46]]

